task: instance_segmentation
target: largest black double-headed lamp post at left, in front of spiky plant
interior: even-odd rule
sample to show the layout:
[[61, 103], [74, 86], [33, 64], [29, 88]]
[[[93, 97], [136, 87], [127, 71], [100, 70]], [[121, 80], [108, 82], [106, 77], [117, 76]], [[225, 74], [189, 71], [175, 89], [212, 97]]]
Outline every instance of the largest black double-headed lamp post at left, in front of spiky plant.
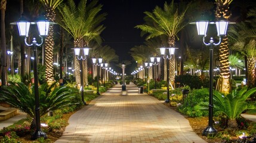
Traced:
[[38, 93], [38, 54], [37, 54], [37, 46], [41, 46], [43, 43], [43, 37], [48, 35], [48, 29], [50, 21], [47, 20], [38, 20], [36, 21], [36, 24], [38, 26], [39, 31], [39, 37], [41, 38], [41, 43], [36, 42], [36, 38], [33, 38], [33, 41], [31, 44], [27, 43], [27, 36], [29, 35], [29, 27], [30, 24], [35, 24], [35, 22], [29, 22], [25, 20], [23, 17], [20, 18], [20, 21], [17, 21], [15, 23], [11, 24], [17, 24], [18, 26], [18, 32], [20, 33], [20, 36], [24, 37], [24, 42], [27, 46], [33, 47], [33, 55], [35, 56], [35, 59], [33, 61], [34, 63], [34, 79], [35, 79], [35, 119], [36, 119], [36, 130], [33, 132], [31, 139], [35, 140], [37, 138], [47, 138], [47, 134], [41, 130], [41, 123], [40, 123], [40, 106], [39, 106], [39, 93]]

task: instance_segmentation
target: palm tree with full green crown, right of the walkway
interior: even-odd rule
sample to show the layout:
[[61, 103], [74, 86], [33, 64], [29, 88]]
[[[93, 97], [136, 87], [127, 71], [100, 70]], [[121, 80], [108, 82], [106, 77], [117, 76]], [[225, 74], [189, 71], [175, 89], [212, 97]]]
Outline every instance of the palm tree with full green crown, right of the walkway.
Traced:
[[[183, 29], [188, 23], [184, 21], [184, 17], [187, 11], [187, 8], [191, 3], [187, 4], [187, 7], [181, 12], [178, 13], [178, 7], [172, 1], [170, 4], [165, 2], [164, 8], [156, 6], [152, 13], [146, 11], [146, 17], [144, 17], [147, 23], [137, 25], [138, 29], [143, 30], [144, 33], [148, 33], [146, 40], [155, 38], [157, 36], [165, 35], [168, 37], [169, 47], [175, 47], [175, 37], [177, 37], [178, 32]], [[174, 86], [175, 78], [175, 56], [172, 55], [172, 58], [169, 62], [170, 64], [170, 74], [168, 78], [171, 81], [171, 84]]]

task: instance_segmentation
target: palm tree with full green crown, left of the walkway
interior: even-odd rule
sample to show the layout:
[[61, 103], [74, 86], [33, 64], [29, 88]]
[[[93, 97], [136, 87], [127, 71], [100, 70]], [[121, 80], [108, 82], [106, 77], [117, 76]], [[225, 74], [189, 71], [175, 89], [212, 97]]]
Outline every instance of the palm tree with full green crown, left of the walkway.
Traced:
[[[98, 41], [100, 33], [104, 30], [100, 23], [105, 19], [106, 14], [100, 14], [102, 5], [97, 5], [97, 2], [91, 1], [87, 4], [86, 0], [82, 0], [76, 5], [73, 0], [68, 0], [67, 4], [58, 8], [61, 18], [57, 20], [57, 23], [72, 35], [75, 47], [88, 46], [88, 42], [92, 39]], [[74, 61], [75, 71], [79, 71], [79, 62], [76, 57]], [[86, 69], [84, 73], [87, 73], [87, 60], [83, 65]], [[80, 74], [76, 73], [75, 77], [79, 88], [81, 86], [79, 84], [81, 83]]]

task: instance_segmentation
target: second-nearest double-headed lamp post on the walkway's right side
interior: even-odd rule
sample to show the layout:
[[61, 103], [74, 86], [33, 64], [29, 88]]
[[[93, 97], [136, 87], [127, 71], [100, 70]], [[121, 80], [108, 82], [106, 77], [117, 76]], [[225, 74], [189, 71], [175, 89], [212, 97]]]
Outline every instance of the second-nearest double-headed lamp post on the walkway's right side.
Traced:
[[[165, 49], [169, 49], [169, 55], [165, 54]], [[174, 55], [175, 48], [160, 48], [161, 55], [164, 59], [166, 59], [166, 70], [167, 70], [167, 98], [165, 100], [166, 103], [170, 102], [169, 99], [169, 60], [171, 60], [172, 55]]]

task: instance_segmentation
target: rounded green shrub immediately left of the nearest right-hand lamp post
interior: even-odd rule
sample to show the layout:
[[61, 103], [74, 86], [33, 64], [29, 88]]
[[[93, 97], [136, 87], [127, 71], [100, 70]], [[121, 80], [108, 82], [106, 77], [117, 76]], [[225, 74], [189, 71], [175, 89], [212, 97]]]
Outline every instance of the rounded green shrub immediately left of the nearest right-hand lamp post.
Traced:
[[201, 117], [208, 116], [208, 111], [204, 110], [195, 110], [195, 105], [201, 102], [209, 101], [209, 90], [206, 88], [203, 89], [194, 89], [189, 93], [187, 98], [184, 100], [184, 104], [178, 107], [178, 110], [190, 117]]

